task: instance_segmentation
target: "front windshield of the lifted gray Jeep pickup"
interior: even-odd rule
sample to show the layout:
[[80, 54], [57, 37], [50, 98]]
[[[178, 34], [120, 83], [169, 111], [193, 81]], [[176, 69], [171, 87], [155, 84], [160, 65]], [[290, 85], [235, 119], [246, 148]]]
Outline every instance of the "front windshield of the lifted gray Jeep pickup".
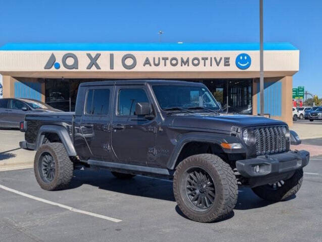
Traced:
[[182, 111], [182, 108], [189, 109], [211, 109], [219, 110], [220, 107], [208, 91], [202, 86], [184, 86], [184, 85], [153, 85], [152, 89], [163, 110], [176, 108]]

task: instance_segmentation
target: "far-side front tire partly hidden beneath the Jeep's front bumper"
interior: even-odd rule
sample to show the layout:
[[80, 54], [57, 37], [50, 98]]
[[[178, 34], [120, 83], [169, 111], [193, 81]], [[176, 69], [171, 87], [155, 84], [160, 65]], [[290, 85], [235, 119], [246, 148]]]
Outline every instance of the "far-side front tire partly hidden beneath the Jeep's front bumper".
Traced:
[[278, 190], [271, 190], [267, 185], [252, 188], [252, 190], [264, 200], [280, 202], [296, 194], [301, 188], [302, 181], [303, 169], [298, 169], [290, 179], [285, 180], [284, 185]]

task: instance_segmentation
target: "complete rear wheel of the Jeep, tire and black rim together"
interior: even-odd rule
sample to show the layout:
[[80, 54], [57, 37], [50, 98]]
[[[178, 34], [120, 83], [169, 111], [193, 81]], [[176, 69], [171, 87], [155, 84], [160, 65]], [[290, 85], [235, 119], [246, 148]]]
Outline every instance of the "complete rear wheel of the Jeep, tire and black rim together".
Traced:
[[61, 190], [73, 177], [73, 162], [62, 143], [43, 144], [36, 152], [34, 172], [39, 186], [48, 191]]

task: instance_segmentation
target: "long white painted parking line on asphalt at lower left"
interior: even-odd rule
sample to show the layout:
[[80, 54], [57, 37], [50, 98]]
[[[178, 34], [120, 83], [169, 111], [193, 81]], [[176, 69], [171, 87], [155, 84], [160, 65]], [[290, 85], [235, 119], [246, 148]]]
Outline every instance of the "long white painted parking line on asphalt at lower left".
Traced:
[[14, 189], [11, 189], [11, 188], [8, 188], [8, 187], [5, 187], [3, 185], [0, 185], [0, 188], [1, 189], [4, 189], [6, 191], [9, 191], [9, 192], [12, 192], [12, 193], [15, 193], [15, 194], [18, 194], [18, 195], [21, 195], [21, 196], [24, 196], [26, 198], [30, 198], [30, 199], [33, 199], [33, 200], [36, 200], [36, 201], [39, 201], [39, 202], [42, 202], [42, 203], [47, 203], [47, 204], [51, 204], [51, 205], [54, 205], [54, 206], [57, 206], [57, 207], [60, 207], [60, 208], [65, 208], [67, 210], [70, 210], [72, 212], [76, 212], [76, 213], [82, 213], [82, 214], [86, 214], [86, 215], [89, 215], [89, 216], [93, 216], [93, 217], [97, 217], [97, 218], [102, 218], [102, 219], [106, 219], [106, 220], [109, 220], [109, 221], [112, 221], [112, 222], [121, 222], [122, 220], [120, 219], [116, 219], [116, 218], [111, 218], [111, 217], [107, 217], [107, 216], [104, 216], [104, 215], [100, 215], [100, 214], [97, 214], [97, 213], [91, 213], [91, 212], [87, 212], [87, 211], [83, 211], [83, 210], [79, 210], [79, 209], [76, 209], [76, 208], [72, 208], [72, 207], [69, 207], [69, 206], [66, 206], [66, 205], [63, 205], [63, 204], [60, 204], [60, 203], [55, 203], [55, 202], [52, 202], [52, 201], [49, 201], [49, 200], [45, 200], [45, 199], [42, 199], [42, 198], [37, 198], [35, 196], [32, 196], [32, 195], [29, 195], [29, 194], [26, 194], [26, 193], [22, 193], [22, 192], [19, 192], [17, 190], [14, 190]]

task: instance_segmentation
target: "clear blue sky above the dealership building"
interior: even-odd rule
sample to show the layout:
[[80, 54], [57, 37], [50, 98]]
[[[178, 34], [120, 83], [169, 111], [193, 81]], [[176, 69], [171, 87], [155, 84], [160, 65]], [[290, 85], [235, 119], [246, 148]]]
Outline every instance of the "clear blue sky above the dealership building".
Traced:
[[[0, 0], [9, 42], [258, 42], [259, 0]], [[322, 96], [319, 0], [264, 0], [264, 41], [300, 49], [293, 86]]]

